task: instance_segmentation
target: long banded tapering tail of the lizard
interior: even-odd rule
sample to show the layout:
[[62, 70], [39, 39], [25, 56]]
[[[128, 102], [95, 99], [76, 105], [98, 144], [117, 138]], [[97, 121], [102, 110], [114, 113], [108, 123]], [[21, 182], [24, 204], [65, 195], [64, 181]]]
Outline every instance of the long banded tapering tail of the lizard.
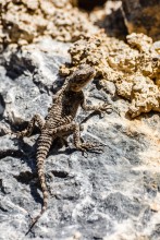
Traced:
[[34, 225], [38, 221], [38, 219], [41, 217], [41, 215], [45, 213], [47, 209], [48, 205], [48, 190], [46, 185], [46, 178], [45, 178], [45, 171], [44, 171], [44, 165], [45, 165], [45, 159], [47, 157], [47, 154], [49, 152], [49, 148], [52, 143], [52, 137], [47, 136], [45, 134], [41, 134], [38, 141], [38, 148], [37, 148], [37, 170], [38, 170], [38, 179], [40, 181], [40, 187], [42, 191], [42, 196], [44, 196], [44, 203], [41, 207], [41, 212], [39, 213], [38, 216], [32, 219], [32, 224], [29, 226], [28, 231], [25, 233], [28, 235], [28, 232], [32, 230]]

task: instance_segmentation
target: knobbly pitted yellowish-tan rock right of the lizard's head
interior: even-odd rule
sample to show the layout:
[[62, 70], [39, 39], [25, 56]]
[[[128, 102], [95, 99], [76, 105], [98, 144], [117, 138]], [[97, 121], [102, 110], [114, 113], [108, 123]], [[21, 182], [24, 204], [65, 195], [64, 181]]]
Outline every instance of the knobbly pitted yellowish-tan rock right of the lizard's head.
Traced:
[[79, 63], [95, 67], [97, 77], [110, 92], [106, 82], [115, 85], [115, 92], [131, 101], [132, 118], [141, 112], [160, 111], [160, 43], [144, 34], [131, 34], [127, 44], [109, 38], [102, 32], [74, 43], [70, 48], [71, 69], [62, 67], [62, 74], [69, 74]]

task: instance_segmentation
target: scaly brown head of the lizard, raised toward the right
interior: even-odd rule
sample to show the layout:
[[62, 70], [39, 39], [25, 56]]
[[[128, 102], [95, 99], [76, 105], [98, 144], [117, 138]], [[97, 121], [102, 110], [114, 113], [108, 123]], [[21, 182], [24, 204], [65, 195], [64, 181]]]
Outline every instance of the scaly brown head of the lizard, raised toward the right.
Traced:
[[83, 87], [94, 77], [95, 69], [89, 64], [81, 64], [70, 76], [69, 87], [73, 92], [81, 92]]

